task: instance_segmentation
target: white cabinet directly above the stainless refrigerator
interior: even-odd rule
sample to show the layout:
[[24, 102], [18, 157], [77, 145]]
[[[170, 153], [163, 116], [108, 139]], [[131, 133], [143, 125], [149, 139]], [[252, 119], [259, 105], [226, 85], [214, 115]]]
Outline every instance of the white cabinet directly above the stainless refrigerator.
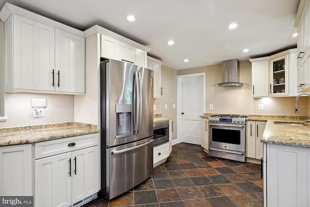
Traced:
[[101, 35], [101, 57], [147, 66], [147, 52], [124, 42]]

